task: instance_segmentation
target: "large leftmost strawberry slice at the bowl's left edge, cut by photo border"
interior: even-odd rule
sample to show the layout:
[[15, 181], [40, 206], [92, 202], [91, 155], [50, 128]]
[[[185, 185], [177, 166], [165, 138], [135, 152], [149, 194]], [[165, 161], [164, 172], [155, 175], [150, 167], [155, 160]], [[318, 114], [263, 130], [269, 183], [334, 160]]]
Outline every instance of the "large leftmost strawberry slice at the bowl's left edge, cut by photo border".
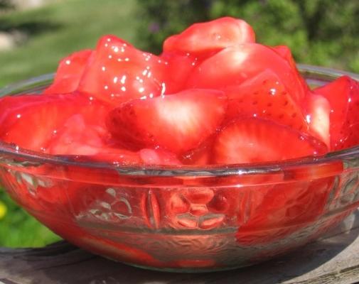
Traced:
[[21, 148], [48, 152], [48, 143], [74, 114], [105, 127], [108, 109], [79, 95], [4, 97], [0, 103], [0, 138]]

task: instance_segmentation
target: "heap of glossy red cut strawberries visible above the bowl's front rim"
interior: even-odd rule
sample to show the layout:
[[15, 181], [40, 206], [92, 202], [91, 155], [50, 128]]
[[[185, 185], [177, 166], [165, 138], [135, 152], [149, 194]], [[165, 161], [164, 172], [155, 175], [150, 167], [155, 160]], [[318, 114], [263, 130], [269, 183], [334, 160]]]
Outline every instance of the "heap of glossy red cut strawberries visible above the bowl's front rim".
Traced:
[[310, 89], [289, 48], [219, 18], [170, 36], [161, 55], [103, 36], [63, 58], [43, 94], [1, 98], [0, 138], [127, 165], [323, 155], [359, 142], [358, 86], [344, 76]]

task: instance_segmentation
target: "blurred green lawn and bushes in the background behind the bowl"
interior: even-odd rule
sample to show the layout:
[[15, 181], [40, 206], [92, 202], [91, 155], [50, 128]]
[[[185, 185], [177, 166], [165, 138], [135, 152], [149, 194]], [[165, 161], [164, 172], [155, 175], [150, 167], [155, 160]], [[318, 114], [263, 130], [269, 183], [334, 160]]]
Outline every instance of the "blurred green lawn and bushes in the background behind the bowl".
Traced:
[[[359, 73], [358, 0], [0, 0], [0, 87], [55, 72], [104, 34], [161, 53], [168, 35], [220, 16], [245, 19], [260, 43], [289, 45], [297, 62]], [[0, 246], [58, 239], [0, 188]]]

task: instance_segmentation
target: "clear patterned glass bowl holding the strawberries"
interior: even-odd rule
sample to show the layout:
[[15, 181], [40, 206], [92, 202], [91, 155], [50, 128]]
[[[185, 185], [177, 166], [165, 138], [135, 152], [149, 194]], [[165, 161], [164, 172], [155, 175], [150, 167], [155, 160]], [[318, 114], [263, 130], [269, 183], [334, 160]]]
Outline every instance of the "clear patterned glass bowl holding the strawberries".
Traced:
[[[299, 68], [312, 86], [348, 75]], [[359, 147], [284, 163], [136, 168], [0, 143], [0, 180], [36, 219], [83, 249], [164, 271], [250, 266], [318, 238], [359, 206], [358, 167]]]

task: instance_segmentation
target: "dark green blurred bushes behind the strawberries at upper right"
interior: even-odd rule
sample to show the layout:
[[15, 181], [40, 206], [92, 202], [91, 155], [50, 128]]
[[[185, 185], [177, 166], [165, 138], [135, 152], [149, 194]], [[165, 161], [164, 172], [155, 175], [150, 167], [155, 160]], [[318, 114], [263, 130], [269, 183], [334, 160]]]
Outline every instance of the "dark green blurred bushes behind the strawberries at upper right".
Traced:
[[138, 1], [148, 23], [140, 35], [156, 52], [188, 24], [233, 16], [253, 26], [258, 42], [288, 45], [298, 62], [359, 72], [358, 0]]

